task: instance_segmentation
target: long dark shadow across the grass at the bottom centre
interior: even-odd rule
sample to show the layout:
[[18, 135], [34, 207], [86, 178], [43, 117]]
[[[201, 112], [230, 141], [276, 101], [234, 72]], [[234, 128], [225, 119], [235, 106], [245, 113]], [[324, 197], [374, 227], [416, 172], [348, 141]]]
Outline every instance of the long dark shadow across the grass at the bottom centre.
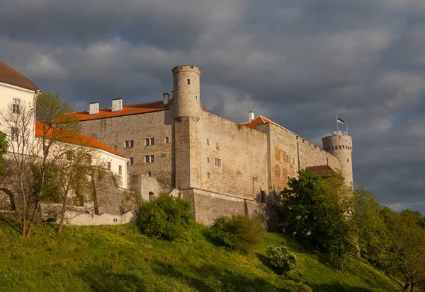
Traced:
[[217, 269], [212, 264], [203, 264], [192, 269], [177, 269], [166, 262], [154, 262], [153, 271], [162, 276], [171, 276], [198, 291], [263, 291], [289, 292], [308, 291], [305, 284], [294, 281], [284, 281], [284, 287], [265, 281], [264, 279], [249, 279], [228, 269]]

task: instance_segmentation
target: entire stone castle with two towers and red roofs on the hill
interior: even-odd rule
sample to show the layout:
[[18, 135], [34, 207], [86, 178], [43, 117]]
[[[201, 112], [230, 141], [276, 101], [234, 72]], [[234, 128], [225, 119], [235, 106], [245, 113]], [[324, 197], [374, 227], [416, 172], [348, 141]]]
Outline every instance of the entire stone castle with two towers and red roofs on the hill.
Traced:
[[239, 124], [203, 109], [200, 68], [172, 69], [172, 98], [74, 115], [82, 134], [128, 158], [127, 187], [145, 200], [159, 192], [187, 199], [196, 221], [217, 216], [271, 211], [276, 194], [297, 171], [341, 170], [352, 184], [352, 140], [343, 132], [322, 139], [323, 148], [266, 117]]

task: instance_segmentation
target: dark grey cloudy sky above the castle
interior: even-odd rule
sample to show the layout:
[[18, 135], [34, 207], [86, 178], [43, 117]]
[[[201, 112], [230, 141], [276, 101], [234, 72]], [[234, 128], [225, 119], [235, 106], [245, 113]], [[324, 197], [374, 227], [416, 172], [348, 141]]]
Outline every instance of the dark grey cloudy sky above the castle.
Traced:
[[0, 60], [74, 110], [171, 92], [200, 66], [201, 100], [321, 145], [335, 115], [354, 182], [425, 214], [424, 0], [0, 0]]

